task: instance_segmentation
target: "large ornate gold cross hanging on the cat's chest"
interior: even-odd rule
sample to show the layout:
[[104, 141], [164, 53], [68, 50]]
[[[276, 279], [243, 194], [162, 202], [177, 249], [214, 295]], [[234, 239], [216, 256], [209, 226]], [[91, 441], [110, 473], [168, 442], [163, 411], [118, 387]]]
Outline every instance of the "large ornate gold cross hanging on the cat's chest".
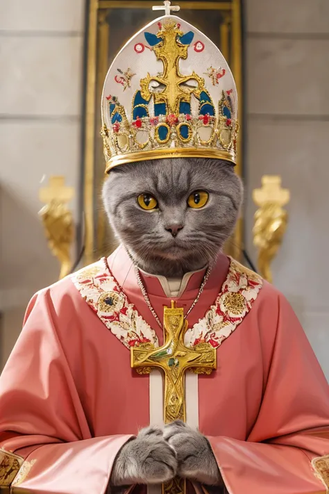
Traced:
[[[171, 308], [164, 310], [164, 345], [155, 348], [150, 343], [144, 343], [130, 349], [131, 367], [139, 374], [149, 374], [153, 368], [162, 369], [165, 373], [165, 424], [173, 420], [186, 420], [185, 410], [185, 372], [210, 374], [217, 368], [217, 352], [210, 343], [199, 343], [193, 348], [184, 345], [184, 335], [188, 323], [184, 319], [183, 308], [176, 308], [176, 302], [171, 302]], [[162, 485], [162, 494], [184, 494], [185, 481], [175, 478]]]

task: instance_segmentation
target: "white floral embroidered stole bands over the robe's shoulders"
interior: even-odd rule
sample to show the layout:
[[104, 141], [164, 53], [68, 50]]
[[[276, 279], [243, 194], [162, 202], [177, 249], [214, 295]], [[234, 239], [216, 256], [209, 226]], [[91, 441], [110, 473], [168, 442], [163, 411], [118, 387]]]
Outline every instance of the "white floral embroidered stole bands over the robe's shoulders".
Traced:
[[[155, 331], [128, 302], [107, 265], [106, 258], [71, 275], [77, 290], [97, 317], [127, 348], [140, 343], [159, 346]], [[262, 288], [262, 278], [230, 259], [228, 275], [205, 317], [187, 329], [185, 346], [208, 342], [219, 347], [251, 310]]]

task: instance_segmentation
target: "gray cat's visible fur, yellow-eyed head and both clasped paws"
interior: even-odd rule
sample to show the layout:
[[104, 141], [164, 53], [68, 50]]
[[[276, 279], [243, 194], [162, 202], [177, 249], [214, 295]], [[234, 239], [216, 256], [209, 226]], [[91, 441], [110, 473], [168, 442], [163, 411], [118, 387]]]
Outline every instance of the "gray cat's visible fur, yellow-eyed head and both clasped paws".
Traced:
[[[211, 265], [242, 204], [233, 165], [205, 158], [149, 160], [110, 172], [103, 202], [120, 242], [144, 271], [166, 277]], [[208, 440], [183, 422], [148, 427], [119, 452], [112, 486], [180, 477], [222, 485]]]

